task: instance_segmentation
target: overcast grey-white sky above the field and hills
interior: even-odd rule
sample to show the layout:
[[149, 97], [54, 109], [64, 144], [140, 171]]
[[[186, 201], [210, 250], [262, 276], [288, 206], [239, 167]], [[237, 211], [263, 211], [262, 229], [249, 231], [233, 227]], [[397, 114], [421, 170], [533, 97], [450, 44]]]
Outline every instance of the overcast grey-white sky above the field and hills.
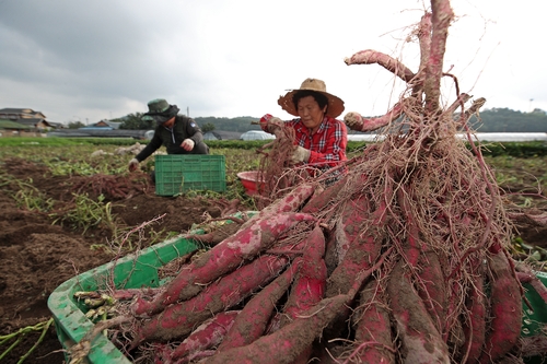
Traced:
[[[364, 49], [416, 71], [416, 0], [0, 0], [0, 108], [96, 122], [166, 98], [191, 117], [289, 118], [278, 105], [306, 78], [346, 111], [381, 115], [404, 84]], [[545, 0], [453, 0], [444, 70], [485, 108], [547, 110]], [[410, 42], [405, 42], [409, 39]], [[454, 101], [446, 81], [443, 102]], [[345, 113], [346, 113], [345, 111]], [[344, 113], [344, 114], [345, 114]], [[344, 116], [342, 114], [342, 116]]]

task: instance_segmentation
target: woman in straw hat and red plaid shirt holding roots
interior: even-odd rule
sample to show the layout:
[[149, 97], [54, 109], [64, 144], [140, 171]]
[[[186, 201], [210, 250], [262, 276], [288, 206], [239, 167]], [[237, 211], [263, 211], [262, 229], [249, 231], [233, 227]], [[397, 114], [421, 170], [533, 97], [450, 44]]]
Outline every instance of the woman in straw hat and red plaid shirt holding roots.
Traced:
[[293, 163], [327, 169], [347, 161], [348, 130], [336, 119], [344, 111], [344, 101], [327, 93], [325, 82], [306, 79], [300, 89], [280, 96], [278, 104], [298, 118], [282, 121], [266, 114], [260, 118], [260, 127], [276, 136], [283, 127], [294, 129], [298, 146], [291, 157]]

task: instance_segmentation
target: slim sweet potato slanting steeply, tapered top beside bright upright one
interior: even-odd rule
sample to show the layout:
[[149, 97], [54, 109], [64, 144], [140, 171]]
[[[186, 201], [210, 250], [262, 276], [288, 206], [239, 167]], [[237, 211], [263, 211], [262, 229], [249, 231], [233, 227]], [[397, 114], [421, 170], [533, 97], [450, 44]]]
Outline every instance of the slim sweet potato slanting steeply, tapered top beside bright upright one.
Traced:
[[302, 258], [296, 258], [274, 282], [258, 292], [241, 310], [217, 349], [219, 352], [252, 343], [266, 332], [277, 302], [289, 289]]

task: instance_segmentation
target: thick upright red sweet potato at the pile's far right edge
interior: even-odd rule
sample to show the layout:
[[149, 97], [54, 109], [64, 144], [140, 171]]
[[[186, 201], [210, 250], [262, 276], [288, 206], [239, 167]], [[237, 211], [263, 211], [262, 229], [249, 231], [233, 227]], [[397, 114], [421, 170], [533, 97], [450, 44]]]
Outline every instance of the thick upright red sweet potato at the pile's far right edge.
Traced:
[[522, 326], [521, 285], [515, 279], [504, 250], [490, 257], [490, 316], [480, 363], [496, 362], [519, 341]]

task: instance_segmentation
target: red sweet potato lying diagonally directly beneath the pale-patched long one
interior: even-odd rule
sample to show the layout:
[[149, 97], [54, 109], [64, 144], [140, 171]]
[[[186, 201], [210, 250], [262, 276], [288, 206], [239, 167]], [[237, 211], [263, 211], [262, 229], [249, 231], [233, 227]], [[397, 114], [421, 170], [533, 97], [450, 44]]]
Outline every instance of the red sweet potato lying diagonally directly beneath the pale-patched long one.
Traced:
[[253, 291], [268, 283], [287, 266], [287, 258], [268, 255], [254, 259], [232, 273], [211, 283], [197, 296], [167, 306], [162, 313], [144, 319], [136, 329], [131, 348], [142, 341], [167, 341], [184, 338], [196, 325], [222, 310], [230, 309]]

